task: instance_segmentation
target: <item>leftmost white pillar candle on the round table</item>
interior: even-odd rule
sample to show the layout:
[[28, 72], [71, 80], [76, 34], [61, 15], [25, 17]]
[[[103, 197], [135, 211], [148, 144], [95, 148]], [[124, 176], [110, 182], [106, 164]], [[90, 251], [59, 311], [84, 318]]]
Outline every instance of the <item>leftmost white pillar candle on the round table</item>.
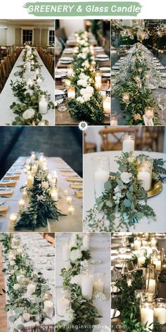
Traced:
[[94, 190], [96, 197], [100, 197], [104, 192], [104, 184], [109, 179], [109, 172], [106, 170], [98, 169], [94, 173]]

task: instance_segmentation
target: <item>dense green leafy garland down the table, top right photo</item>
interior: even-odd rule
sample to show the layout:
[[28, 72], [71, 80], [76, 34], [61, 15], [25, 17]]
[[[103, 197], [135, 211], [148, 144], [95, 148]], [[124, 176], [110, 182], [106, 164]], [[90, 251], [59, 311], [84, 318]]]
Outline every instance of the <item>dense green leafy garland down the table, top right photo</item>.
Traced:
[[[154, 108], [154, 125], [160, 125], [158, 103], [155, 102], [146, 81], [150, 69], [145, 53], [138, 44], [129, 62], [125, 80], [122, 79], [121, 72], [120, 75], [117, 75], [119, 83], [115, 87], [115, 96], [120, 100], [126, 125], [144, 125], [143, 115], [145, 108], [149, 106]], [[153, 75], [158, 74], [153, 71]], [[124, 94], [129, 95], [129, 100], [125, 101]]]

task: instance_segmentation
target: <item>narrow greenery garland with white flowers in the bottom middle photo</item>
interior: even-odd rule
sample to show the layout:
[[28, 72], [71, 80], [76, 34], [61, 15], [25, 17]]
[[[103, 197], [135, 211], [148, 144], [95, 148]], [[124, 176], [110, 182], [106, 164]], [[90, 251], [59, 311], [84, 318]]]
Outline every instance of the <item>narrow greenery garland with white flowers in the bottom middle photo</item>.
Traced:
[[[56, 332], [70, 332], [73, 329], [79, 332], [89, 332], [99, 323], [98, 319], [101, 317], [92, 300], [85, 300], [82, 297], [81, 286], [72, 281], [72, 279], [80, 275], [82, 261], [87, 264], [87, 260], [91, 258], [89, 250], [82, 250], [82, 237], [79, 235], [77, 235], [77, 243], [72, 246], [71, 252], [75, 252], [75, 250], [79, 250], [79, 257], [75, 261], [70, 260], [70, 266], [63, 268], [60, 274], [63, 276], [63, 286], [68, 286], [71, 290], [72, 309], [70, 320], [58, 321]], [[73, 328], [73, 326], [75, 327]]]

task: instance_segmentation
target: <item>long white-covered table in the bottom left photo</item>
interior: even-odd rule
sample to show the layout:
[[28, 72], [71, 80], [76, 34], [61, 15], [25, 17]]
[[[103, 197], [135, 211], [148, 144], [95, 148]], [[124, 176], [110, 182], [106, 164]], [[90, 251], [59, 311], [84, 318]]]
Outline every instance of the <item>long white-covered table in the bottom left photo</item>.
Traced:
[[[44, 279], [46, 279], [46, 283], [51, 288], [51, 293], [54, 294], [55, 290], [55, 249], [51, 246], [49, 242], [47, 242], [41, 234], [33, 234], [33, 233], [22, 233], [20, 236], [20, 245], [23, 246], [25, 252], [33, 261], [34, 270], [37, 269], [41, 272]], [[35, 250], [34, 250], [35, 246]], [[48, 257], [49, 255], [49, 257]], [[47, 264], [50, 261], [51, 269], [48, 269]], [[4, 264], [6, 267], [6, 264]], [[8, 290], [7, 286], [8, 274], [6, 274], [6, 291]], [[53, 295], [54, 296], [54, 295]], [[24, 297], [24, 294], [23, 294]], [[11, 311], [8, 312], [8, 317], [12, 314]], [[17, 325], [22, 323], [21, 319], [17, 319], [15, 323], [11, 323], [11, 321], [7, 321], [8, 331], [10, 332], [18, 332]], [[39, 331], [53, 331], [49, 329], [49, 326], [53, 326], [55, 324], [55, 317], [51, 317], [51, 319], [44, 319], [43, 325], [45, 325], [44, 330]], [[35, 328], [39, 326], [38, 322], [27, 321], [24, 323], [25, 328], [28, 328], [26, 331], [36, 331]], [[32, 330], [34, 328], [34, 330]]]

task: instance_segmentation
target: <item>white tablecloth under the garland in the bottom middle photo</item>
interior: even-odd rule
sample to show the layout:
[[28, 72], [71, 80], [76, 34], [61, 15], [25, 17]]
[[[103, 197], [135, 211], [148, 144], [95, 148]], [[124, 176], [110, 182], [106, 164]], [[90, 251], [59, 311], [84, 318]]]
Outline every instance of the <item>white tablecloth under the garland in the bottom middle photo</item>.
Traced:
[[[60, 270], [65, 267], [63, 262], [62, 248], [64, 243], [68, 243], [70, 234], [56, 234], [56, 286], [63, 286], [63, 278]], [[94, 300], [94, 305], [98, 309], [102, 318], [100, 324], [110, 324], [110, 234], [91, 234], [90, 253], [92, 260], [100, 260], [101, 264], [95, 264], [95, 272], [105, 272], [105, 293], [106, 302]], [[56, 315], [56, 323], [60, 317]]]

